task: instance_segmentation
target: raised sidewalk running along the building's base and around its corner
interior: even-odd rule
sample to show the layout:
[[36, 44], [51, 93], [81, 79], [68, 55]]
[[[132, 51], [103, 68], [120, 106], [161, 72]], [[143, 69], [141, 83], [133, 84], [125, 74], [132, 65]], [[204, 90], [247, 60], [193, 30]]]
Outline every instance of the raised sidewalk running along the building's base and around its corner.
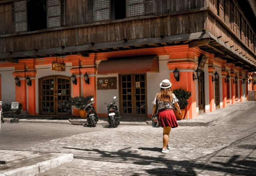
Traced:
[[[239, 111], [243, 111], [246, 108], [256, 104], [255, 101], [244, 101], [240, 103], [236, 103], [233, 105], [229, 105], [225, 108], [217, 109], [213, 112], [207, 112], [201, 115], [196, 116], [193, 119], [183, 119], [178, 121], [179, 126], [211, 126], [215, 125], [217, 122], [226, 119]], [[4, 118], [4, 122], [10, 122], [12, 118]], [[98, 124], [101, 125], [108, 125], [107, 117], [99, 117]], [[46, 119], [44, 118], [26, 118], [26, 119], [19, 119], [19, 123], [54, 123], [54, 124], [72, 124], [72, 125], [84, 125], [87, 123], [86, 119], [81, 118], [55, 118]], [[121, 117], [120, 118], [120, 125], [151, 125], [152, 121], [151, 118], [138, 118], [138, 117]]]

